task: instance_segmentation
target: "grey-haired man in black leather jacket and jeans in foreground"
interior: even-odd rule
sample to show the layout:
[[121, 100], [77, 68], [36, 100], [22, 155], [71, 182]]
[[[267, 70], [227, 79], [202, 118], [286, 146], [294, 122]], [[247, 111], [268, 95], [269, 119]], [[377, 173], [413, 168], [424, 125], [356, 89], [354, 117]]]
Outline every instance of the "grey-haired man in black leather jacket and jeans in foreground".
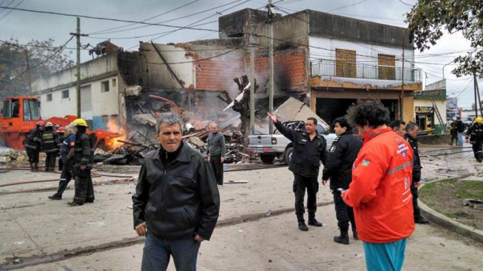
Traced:
[[149, 152], [133, 195], [134, 229], [146, 236], [142, 271], [196, 270], [200, 244], [209, 240], [220, 196], [208, 161], [181, 141], [182, 121], [172, 113], [158, 118], [161, 148]]

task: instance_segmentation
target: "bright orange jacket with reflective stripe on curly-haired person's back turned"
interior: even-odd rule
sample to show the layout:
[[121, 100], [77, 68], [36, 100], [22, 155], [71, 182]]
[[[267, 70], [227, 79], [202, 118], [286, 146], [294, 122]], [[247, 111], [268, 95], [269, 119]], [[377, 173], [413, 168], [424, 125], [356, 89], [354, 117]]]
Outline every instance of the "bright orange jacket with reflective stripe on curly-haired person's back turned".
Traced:
[[342, 197], [354, 208], [357, 233], [368, 243], [389, 243], [414, 231], [411, 194], [413, 149], [391, 128], [364, 134]]

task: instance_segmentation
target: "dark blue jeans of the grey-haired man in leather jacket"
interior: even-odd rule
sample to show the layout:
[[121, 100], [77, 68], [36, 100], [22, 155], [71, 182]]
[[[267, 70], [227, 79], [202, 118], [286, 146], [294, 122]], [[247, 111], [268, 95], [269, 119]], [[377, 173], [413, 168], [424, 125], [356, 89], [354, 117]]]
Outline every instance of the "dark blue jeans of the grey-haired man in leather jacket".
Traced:
[[166, 241], [148, 232], [142, 252], [141, 271], [165, 271], [173, 256], [177, 271], [195, 271], [200, 243], [192, 238]]

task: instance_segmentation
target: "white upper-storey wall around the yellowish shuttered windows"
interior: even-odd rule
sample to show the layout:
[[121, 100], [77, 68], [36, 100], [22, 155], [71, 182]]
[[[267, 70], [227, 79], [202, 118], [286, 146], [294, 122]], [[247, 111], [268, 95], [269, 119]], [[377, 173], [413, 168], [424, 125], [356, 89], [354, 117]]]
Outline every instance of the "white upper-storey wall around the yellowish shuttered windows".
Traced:
[[[356, 51], [356, 62], [361, 64], [378, 64], [378, 54], [394, 55], [396, 58], [396, 67], [402, 67], [402, 48], [394, 48], [381, 45], [373, 45], [366, 43], [348, 42], [343, 40], [309, 37], [309, 45], [325, 48], [328, 50], [309, 47], [309, 55], [311, 60], [325, 59], [335, 60], [335, 49], [346, 49]], [[414, 50], [412, 48], [404, 50], [404, 68], [414, 68], [414, 64], [408, 62], [414, 61]], [[399, 61], [397, 61], [399, 59]]]

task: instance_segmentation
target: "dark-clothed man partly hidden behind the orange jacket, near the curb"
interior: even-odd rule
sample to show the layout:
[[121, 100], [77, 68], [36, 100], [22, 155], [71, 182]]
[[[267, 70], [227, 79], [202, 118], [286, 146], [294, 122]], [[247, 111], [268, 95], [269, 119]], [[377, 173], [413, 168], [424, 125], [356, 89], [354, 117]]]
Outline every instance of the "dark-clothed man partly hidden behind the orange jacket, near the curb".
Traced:
[[427, 224], [429, 221], [421, 216], [421, 210], [419, 210], [419, 207], [417, 206], [417, 188], [421, 181], [421, 160], [419, 159], [419, 151], [417, 148], [418, 131], [419, 127], [413, 122], [406, 125], [406, 140], [413, 148], [413, 182], [411, 183], [411, 193], [413, 194], [414, 222]]

